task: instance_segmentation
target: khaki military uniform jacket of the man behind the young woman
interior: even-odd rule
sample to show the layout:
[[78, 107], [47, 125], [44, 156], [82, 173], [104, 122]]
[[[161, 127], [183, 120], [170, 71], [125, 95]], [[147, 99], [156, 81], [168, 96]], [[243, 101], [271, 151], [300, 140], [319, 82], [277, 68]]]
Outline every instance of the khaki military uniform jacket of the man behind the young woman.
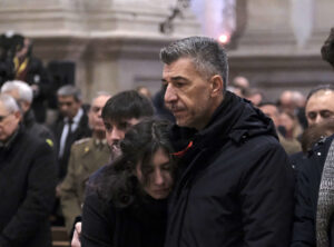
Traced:
[[85, 185], [88, 177], [110, 157], [107, 142], [97, 144], [97, 139], [85, 138], [72, 145], [68, 172], [60, 186], [61, 209], [68, 233], [71, 231], [75, 218], [81, 215]]

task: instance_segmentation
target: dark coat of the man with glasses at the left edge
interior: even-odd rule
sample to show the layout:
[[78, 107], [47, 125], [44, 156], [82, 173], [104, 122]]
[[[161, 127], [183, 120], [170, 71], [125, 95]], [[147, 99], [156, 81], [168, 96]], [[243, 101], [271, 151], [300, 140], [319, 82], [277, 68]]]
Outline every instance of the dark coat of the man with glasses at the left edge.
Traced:
[[0, 147], [0, 246], [51, 246], [57, 170], [52, 148], [20, 128]]

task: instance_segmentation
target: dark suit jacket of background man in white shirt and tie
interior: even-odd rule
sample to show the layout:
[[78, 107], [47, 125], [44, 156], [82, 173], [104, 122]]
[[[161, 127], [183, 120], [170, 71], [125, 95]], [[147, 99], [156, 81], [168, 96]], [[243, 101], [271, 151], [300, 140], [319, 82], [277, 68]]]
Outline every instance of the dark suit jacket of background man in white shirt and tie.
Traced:
[[[60, 138], [61, 138], [61, 134], [62, 134], [62, 129], [63, 129], [65, 122], [62, 119], [59, 119], [55, 126], [52, 127], [53, 134], [55, 134], [55, 138], [56, 138], [56, 154], [58, 157], [59, 154], [59, 147], [60, 147]], [[76, 140], [80, 140], [85, 137], [90, 137], [91, 136], [91, 130], [88, 126], [88, 117], [86, 115], [86, 112], [82, 115], [78, 128], [69, 134], [69, 141], [67, 142], [67, 145], [65, 146], [63, 149], [63, 155], [62, 158], [58, 158], [58, 167], [59, 167], [59, 180], [61, 181], [67, 172], [67, 167], [68, 167], [68, 160], [69, 160], [69, 156], [70, 156], [70, 150], [71, 150], [71, 145], [76, 141]]]

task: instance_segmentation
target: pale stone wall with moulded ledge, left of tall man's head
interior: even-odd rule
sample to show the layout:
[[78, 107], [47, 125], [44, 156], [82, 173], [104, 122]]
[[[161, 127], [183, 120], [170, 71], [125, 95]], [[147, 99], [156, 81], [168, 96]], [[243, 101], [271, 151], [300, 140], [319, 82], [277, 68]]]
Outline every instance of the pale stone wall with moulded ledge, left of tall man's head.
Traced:
[[159, 24], [175, 0], [0, 0], [0, 32], [14, 30], [35, 41], [45, 62], [71, 60], [76, 83], [88, 101], [97, 90], [116, 93], [144, 85], [160, 87], [159, 49], [167, 42], [199, 34], [186, 10], [165, 34]]

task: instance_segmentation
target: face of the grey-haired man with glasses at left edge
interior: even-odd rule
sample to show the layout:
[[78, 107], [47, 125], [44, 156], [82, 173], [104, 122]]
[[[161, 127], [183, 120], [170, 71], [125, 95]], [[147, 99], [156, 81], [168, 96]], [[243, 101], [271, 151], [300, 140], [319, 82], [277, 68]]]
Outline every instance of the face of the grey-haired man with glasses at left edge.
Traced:
[[17, 130], [20, 112], [9, 112], [0, 101], [0, 141], [6, 141]]

